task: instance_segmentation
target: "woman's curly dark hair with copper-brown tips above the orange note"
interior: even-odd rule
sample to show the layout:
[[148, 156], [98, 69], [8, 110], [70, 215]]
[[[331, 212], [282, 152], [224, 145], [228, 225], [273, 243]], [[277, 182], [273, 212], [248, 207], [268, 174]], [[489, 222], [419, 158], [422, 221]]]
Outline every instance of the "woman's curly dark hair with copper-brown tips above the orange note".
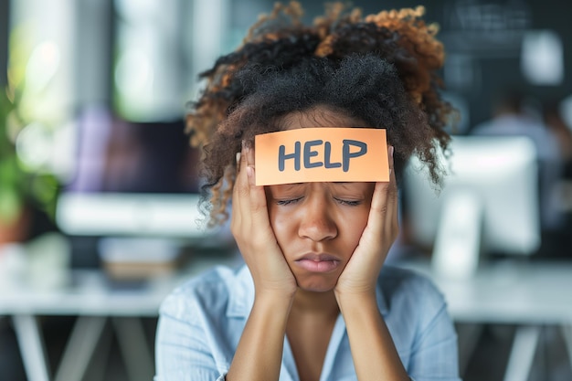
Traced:
[[438, 27], [426, 25], [423, 14], [418, 6], [363, 17], [358, 8], [335, 3], [304, 26], [299, 3], [279, 3], [236, 51], [201, 73], [207, 86], [186, 122], [191, 144], [203, 147], [209, 223], [228, 218], [242, 142], [252, 145], [255, 135], [280, 131], [285, 115], [317, 106], [386, 129], [396, 174], [417, 154], [440, 185], [438, 150], [447, 150], [444, 127], [454, 110], [440, 97]]

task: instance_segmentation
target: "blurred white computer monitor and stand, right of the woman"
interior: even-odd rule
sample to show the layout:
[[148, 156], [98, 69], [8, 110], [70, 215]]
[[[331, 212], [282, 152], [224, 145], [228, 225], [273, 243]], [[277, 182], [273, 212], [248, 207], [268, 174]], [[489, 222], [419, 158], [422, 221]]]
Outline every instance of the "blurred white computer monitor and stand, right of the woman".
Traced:
[[432, 248], [434, 270], [466, 277], [482, 253], [528, 256], [539, 248], [535, 145], [522, 136], [453, 136], [439, 190], [414, 156], [404, 172], [413, 243]]

